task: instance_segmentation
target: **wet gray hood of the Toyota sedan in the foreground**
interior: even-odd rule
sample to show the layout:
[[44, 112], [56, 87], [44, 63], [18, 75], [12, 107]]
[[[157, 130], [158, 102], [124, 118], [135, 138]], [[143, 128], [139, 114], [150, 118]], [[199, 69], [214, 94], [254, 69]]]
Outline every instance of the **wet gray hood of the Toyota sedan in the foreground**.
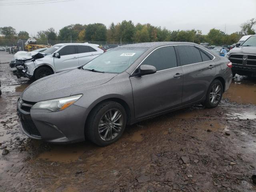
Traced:
[[38, 102], [81, 94], [87, 88], [104, 84], [116, 75], [82, 69], [61, 72], [35, 81], [24, 90], [21, 98], [29, 102]]

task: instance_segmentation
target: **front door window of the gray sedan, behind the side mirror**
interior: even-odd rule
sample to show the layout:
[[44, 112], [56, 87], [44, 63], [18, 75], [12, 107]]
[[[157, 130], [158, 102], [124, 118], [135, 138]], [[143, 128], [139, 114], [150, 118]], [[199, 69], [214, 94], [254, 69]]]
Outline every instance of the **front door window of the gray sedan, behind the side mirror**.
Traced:
[[177, 67], [174, 47], [158, 48], [143, 61], [142, 65], [155, 66], [157, 71]]

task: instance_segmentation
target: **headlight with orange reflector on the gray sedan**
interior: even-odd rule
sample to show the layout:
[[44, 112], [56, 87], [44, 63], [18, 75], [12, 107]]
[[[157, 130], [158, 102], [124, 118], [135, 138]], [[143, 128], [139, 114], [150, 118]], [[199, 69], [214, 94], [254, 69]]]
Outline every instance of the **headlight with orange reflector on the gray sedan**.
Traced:
[[51, 111], [61, 111], [68, 108], [70, 105], [76, 102], [80, 97], [82, 97], [82, 94], [58, 98], [58, 99], [40, 101], [34, 104], [31, 109], [48, 109]]

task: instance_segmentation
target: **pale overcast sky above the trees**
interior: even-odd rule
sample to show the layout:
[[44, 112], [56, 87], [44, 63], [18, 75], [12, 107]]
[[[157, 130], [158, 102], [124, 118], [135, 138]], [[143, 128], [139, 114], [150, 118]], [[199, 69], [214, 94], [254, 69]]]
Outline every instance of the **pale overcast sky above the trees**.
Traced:
[[[58, 0], [64, 1], [64, 0]], [[37, 2], [46, 4], [2, 4]], [[203, 34], [211, 28], [230, 34], [240, 24], [256, 18], [256, 0], [0, 0], [0, 27], [12, 26], [17, 32], [36, 35], [53, 27], [57, 32], [70, 24], [103, 23], [107, 27], [122, 20], [134, 24], [150, 23], [168, 30], [199, 29]]]

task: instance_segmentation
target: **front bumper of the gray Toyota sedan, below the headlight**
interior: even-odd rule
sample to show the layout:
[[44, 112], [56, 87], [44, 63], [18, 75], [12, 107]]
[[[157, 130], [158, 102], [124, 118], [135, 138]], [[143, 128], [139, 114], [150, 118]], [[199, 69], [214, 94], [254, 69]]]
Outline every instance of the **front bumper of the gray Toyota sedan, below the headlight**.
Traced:
[[84, 141], [86, 108], [71, 105], [65, 110], [51, 112], [44, 109], [22, 110], [17, 105], [22, 132], [33, 139], [51, 143], [70, 143]]

